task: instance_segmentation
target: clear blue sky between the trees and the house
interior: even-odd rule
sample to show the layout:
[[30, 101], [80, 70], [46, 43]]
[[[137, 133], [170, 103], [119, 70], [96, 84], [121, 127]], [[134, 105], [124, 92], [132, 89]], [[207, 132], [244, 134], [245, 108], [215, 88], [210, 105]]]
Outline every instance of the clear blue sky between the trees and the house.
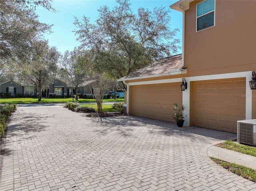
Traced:
[[[170, 9], [170, 5], [177, 0], [130, 0], [131, 8], [136, 14], [138, 8], [148, 8], [153, 10], [154, 7], [165, 6]], [[45, 35], [50, 46], [57, 47], [58, 51], [64, 53], [66, 50], [72, 51], [74, 47], [79, 46], [80, 42], [76, 41], [77, 36], [72, 32], [75, 30], [74, 16], [78, 20], [82, 20], [83, 16], [90, 17], [91, 23], [98, 18], [98, 9], [100, 6], [107, 5], [110, 9], [116, 5], [115, 0], [53, 0], [52, 6], [58, 12], [50, 12], [44, 8], [37, 8], [36, 12], [39, 16], [39, 21], [54, 25], [50, 35]], [[171, 27], [179, 28], [177, 38], [182, 40], [182, 13], [171, 10]], [[181, 44], [180, 44], [181, 45]], [[181, 53], [181, 49], [179, 53]]]

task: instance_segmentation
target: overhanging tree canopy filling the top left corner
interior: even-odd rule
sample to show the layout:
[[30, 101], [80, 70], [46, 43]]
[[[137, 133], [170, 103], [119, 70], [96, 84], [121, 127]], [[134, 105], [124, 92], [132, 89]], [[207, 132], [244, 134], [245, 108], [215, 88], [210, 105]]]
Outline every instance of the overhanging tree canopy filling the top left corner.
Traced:
[[38, 21], [36, 6], [55, 11], [51, 0], [1, 0], [0, 1], [0, 59], [24, 59], [32, 49], [32, 41], [50, 26]]

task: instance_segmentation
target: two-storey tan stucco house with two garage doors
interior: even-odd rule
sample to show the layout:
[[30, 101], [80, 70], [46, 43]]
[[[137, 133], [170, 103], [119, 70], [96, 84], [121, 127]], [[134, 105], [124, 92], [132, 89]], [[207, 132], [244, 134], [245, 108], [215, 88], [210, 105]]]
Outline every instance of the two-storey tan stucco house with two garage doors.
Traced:
[[[118, 81], [127, 85], [129, 115], [174, 122], [184, 104], [185, 126], [237, 132], [237, 121], [256, 119], [256, 1], [180, 0], [182, 55], [160, 59]], [[187, 89], [181, 91], [182, 79]]]

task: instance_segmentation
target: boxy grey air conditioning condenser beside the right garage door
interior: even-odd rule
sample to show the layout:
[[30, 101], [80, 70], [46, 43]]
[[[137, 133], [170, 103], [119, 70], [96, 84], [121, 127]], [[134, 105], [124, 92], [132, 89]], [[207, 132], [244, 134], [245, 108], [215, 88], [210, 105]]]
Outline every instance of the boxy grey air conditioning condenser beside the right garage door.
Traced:
[[256, 146], [256, 119], [237, 121], [237, 141]]

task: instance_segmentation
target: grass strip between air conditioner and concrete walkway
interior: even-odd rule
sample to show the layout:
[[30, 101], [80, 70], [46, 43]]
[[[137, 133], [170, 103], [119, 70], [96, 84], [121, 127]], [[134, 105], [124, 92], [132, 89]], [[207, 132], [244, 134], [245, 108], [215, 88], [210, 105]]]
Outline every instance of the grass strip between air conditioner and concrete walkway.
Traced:
[[217, 144], [216, 146], [256, 157], [255, 146], [237, 144], [234, 143], [232, 140], [225, 141], [223, 143]]

